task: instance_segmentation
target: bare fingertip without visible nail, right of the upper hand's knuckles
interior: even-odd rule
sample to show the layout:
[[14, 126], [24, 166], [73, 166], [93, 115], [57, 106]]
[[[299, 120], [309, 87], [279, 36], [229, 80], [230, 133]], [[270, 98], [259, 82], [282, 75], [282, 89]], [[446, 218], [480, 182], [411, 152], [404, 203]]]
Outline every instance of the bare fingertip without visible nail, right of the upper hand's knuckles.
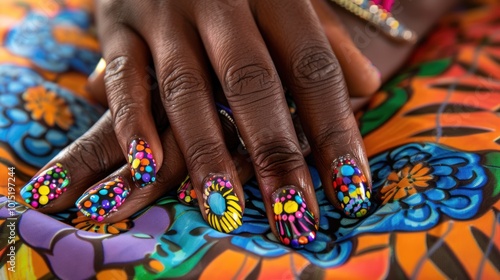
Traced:
[[354, 45], [335, 12], [323, 0], [312, 0], [333, 52], [342, 68], [351, 96], [369, 96], [380, 87], [379, 70]]

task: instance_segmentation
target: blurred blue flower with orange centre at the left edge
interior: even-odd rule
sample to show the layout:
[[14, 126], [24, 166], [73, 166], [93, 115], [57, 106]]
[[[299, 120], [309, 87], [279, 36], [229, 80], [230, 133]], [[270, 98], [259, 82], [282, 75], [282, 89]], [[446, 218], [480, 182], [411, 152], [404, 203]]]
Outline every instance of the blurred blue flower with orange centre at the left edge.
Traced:
[[28, 68], [0, 65], [0, 141], [26, 162], [43, 166], [101, 114]]

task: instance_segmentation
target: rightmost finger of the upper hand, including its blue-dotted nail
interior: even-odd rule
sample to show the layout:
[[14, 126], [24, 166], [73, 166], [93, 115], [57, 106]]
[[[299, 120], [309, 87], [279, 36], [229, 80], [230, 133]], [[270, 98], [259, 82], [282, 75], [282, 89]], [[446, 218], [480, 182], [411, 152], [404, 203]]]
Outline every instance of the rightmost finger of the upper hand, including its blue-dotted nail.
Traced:
[[368, 161], [342, 71], [314, 10], [307, 1], [256, 3], [259, 26], [294, 96], [325, 192], [346, 215], [365, 215], [371, 205]]

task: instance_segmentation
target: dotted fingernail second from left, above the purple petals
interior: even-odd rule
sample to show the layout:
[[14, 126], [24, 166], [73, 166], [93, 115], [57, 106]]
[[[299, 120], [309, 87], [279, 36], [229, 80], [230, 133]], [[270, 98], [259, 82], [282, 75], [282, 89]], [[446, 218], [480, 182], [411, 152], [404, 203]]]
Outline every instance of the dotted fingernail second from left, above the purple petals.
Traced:
[[86, 191], [75, 205], [85, 216], [101, 222], [122, 205], [129, 193], [130, 188], [118, 176]]

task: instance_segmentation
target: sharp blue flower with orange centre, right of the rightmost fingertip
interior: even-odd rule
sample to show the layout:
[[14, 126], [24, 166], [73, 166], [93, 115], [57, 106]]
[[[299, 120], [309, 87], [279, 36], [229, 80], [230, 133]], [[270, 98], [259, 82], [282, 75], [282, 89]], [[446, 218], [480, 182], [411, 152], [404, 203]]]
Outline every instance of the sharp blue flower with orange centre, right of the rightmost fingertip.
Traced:
[[373, 189], [383, 205], [348, 238], [366, 232], [421, 231], [443, 216], [473, 218], [483, 200], [487, 175], [474, 153], [433, 143], [407, 144], [370, 161]]

